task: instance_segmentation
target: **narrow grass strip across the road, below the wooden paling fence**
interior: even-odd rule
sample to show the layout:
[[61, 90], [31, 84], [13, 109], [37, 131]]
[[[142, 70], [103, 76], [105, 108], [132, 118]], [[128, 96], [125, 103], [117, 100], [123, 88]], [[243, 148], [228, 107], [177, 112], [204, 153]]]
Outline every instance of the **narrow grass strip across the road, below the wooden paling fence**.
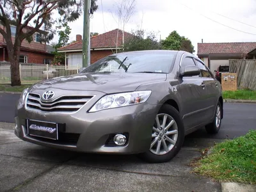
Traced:
[[256, 91], [251, 91], [251, 90], [223, 91], [223, 98], [224, 99], [256, 100]]

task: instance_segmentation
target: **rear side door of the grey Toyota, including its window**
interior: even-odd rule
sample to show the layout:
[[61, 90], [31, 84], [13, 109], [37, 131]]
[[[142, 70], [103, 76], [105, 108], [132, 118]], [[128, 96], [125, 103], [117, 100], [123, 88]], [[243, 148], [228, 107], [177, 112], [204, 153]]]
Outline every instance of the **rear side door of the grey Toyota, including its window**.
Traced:
[[213, 74], [207, 68], [204, 63], [197, 58], [194, 58], [196, 65], [200, 67], [201, 74], [200, 77], [202, 78], [203, 83], [205, 84], [206, 90], [206, 97], [205, 97], [205, 116], [204, 120], [209, 121], [212, 116], [214, 115], [215, 107], [218, 102], [218, 95], [219, 95], [219, 88], [220, 84], [218, 80], [214, 79]]

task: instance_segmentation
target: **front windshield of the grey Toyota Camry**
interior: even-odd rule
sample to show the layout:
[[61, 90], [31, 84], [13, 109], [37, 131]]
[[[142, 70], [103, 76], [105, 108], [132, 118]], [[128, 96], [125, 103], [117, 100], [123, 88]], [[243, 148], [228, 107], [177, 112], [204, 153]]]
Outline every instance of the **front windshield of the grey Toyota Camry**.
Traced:
[[107, 56], [81, 70], [86, 72], [168, 73], [176, 52], [136, 52]]

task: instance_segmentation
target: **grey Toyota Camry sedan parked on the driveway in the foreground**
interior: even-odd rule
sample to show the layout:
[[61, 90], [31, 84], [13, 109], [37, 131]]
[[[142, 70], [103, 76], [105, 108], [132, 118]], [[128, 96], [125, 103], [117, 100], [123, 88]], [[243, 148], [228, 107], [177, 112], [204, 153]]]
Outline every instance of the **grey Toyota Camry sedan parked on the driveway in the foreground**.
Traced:
[[177, 155], [186, 134], [204, 126], [216, 134], [222, 118], [221, 84], [200, 59], [185, 51], [134, 51], [24, 90], [15, 135], [161, 163]]

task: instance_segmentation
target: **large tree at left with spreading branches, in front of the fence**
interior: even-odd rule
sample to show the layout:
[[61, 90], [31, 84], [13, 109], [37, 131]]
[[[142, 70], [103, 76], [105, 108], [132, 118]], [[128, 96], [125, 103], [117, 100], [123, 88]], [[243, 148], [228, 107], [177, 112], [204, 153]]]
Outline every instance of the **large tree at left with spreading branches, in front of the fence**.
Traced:
[[[92, 11], [98, 6], [92, 0]], [[20, 85], [19, 55], [23, 40], [31, 42], [35, 32], [42, 34], [40, 41], [49, 43], [56, 31], [57, 23], [71, 22], [83, 12], [83, 0], [1, 0], [0, 33], [6, 41], [11, 64], [11, 84]], [[11, 25], [16, 26], [12, 41]], [[47, 32], [45, 32], [47, 31]]]

